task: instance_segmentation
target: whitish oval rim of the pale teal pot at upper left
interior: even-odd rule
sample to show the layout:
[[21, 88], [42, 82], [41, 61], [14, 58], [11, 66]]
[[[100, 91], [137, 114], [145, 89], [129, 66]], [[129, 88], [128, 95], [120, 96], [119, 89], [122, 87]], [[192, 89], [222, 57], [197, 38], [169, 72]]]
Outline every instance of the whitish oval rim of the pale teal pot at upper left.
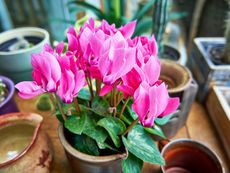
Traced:
[[[27, 34], [27, 32], [29, 32], [29, 31], [33, 32], [33, 33], [37, 33], [37, 34], [35, 34], [35, 36], [38, 34], [43, 35], [44, 37], [42, 37], [42, 41], [39, 42], [38, 44], [34, 45], [33, 47], [26, 48], [26, 49], [14, 50], [14, 51], [10, 51], [10, 52], [0, 51], [0, 56], [1, 55], [10, 56], [10, 55], [15, 55], [15, 54], [22, 54], [22, 53], [28, 53], [30, 51], [35, 51], [38, 47], [40, 47], [41, 45], [44, 45], [45, 43], [47, 43], [49, 41], [49, 33], [45, 29], [38, 28], [38, 27], [20, 27], [20, 28], [15, 28], [15, 29], [5, 31], [5, 32], [0, 34], [0, 41], [1, 41], [1, 37], [3, 37], [4, 35], [5, 35], [5, 37], [7, 35], [9, 37], [10, 36], [12, 37], [12, 35], [18, 35], [20, 33], [23, 33], [23, 35], [30, 35], [30, 34]], [[12, 38], [14, 38], [14, 37], [12, 37]]]

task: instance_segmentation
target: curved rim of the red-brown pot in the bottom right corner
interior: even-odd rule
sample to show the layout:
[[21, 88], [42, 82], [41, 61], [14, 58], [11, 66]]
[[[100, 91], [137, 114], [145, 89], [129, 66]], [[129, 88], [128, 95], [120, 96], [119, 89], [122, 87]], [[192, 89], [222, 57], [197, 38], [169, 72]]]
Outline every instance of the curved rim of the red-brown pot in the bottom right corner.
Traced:
[[[197, 148], [199, 148], [200, 150], [202, 150], [203, 152], [205, 152], [208, 155], [211, 155], [211, 157], [213, 158], [213, 160], [219, 164], [219, 167], [221, 168], [222, 173], [225, 173], [225, 169], [223, 167], [223, 163], [221, 161], [221, 159], [219, 158], [219, 156], [216, 154], [215, 151], [212, 151], [207, 145], [205, 145], [202, 142], [193, 140], [193, 139], [188, 139], [188, 138], [179, 138], [173, 141], [168, 142], [162, 149], [161, 151], [161, 155], [164, 157], [165, 152], [167, 151], [167, 149], [170, 146], [173, 146], [174, 144], [180, 144], [180, 143], [191, 143], [194, 146], [197, 146]], [[164, 166], [161, 166], [161, 170], [164, 173], [165, 169]]]

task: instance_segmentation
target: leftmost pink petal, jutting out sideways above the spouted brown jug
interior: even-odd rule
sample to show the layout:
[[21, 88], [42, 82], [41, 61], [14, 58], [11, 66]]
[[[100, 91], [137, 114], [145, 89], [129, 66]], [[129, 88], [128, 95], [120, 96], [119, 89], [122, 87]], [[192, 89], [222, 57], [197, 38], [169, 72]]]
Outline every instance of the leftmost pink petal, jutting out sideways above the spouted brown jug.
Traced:
[[45, 92], [41, 86], [29, 81], [20, 82], [15, 85], [15, 88], [19, 90], [18, 95], [24, 99], [30, 99]]

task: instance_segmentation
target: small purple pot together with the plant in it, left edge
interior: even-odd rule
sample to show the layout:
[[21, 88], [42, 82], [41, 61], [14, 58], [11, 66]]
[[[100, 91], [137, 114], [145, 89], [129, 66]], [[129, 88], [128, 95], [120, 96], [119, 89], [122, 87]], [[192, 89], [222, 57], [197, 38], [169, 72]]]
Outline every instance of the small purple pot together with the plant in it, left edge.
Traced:
[[14, 100], [14, 83], [7, 77], [0, 75], [0, 115], [18, 112]]

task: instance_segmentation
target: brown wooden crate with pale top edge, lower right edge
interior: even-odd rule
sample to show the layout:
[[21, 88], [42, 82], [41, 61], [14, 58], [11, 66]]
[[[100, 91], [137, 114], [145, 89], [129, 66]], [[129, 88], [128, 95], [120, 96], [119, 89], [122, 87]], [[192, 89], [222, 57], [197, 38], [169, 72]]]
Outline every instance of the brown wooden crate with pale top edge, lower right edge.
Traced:
[[230, 87], [212, 87], [206, 108], [230, 158]]

